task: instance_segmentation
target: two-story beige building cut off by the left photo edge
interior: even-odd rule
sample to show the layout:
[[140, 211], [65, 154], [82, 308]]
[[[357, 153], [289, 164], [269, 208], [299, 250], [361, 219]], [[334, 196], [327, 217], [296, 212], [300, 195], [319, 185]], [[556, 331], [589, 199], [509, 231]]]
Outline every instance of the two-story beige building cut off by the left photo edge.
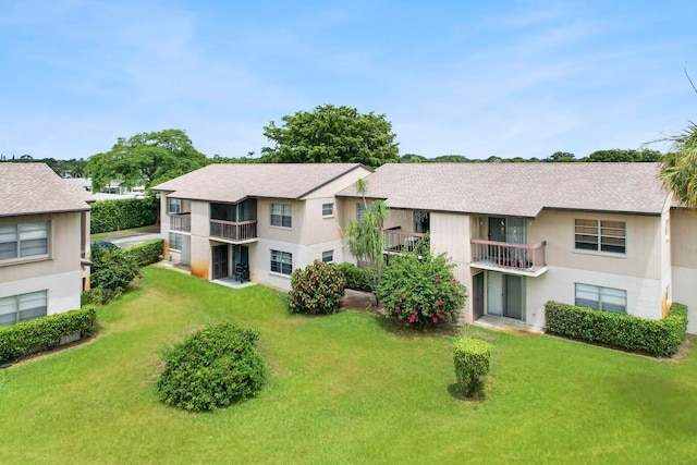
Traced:
[[0, 325], [80, 308], [89, 194], [45, 163], [0, 163]]

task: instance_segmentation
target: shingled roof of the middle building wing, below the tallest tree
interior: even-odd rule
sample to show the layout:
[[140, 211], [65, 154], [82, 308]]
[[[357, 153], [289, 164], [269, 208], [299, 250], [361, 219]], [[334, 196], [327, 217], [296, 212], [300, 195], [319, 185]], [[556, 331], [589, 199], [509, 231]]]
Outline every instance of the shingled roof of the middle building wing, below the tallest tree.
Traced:
[[360, 163], [209, 164], [152, 187], [169, 196], [235, 204], [246, 197], [302, 198]]

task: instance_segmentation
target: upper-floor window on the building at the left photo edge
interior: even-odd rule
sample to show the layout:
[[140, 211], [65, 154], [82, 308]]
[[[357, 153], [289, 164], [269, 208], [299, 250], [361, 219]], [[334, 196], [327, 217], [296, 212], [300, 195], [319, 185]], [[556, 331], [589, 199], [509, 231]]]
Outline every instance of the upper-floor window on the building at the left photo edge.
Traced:
[[49, 222], [0, 225], [0, 260], [48, 254]]

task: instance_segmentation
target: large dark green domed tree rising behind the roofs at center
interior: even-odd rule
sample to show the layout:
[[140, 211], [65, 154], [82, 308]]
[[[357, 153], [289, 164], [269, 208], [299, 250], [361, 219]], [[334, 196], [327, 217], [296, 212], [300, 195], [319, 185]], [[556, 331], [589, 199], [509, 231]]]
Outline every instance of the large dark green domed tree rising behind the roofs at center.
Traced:
[[274, 163], [356, 162], [377, 168], [400, 161], [392, 124], [384, 114], [358, 113], [350, 107], [325, 105], [313, 112], [298, 111], [264, 126], [274, 143], [261, 148], [264, 161]]

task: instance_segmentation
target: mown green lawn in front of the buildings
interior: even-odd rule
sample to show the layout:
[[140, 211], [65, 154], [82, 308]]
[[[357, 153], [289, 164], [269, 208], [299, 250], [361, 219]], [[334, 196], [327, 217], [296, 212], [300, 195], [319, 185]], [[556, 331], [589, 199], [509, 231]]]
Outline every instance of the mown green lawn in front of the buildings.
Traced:
[[[697, 363], [465, 327], [486, 399], [451, 394], [455, 333], [372, 314], [289, 315], [262, 286], [148, 268], [88, 344], [0, 371], [0, 463], [694, 463]], [[160, 352], [208, 322], [261, 331], [270, 382], [188, 414], [157, 400]]]

